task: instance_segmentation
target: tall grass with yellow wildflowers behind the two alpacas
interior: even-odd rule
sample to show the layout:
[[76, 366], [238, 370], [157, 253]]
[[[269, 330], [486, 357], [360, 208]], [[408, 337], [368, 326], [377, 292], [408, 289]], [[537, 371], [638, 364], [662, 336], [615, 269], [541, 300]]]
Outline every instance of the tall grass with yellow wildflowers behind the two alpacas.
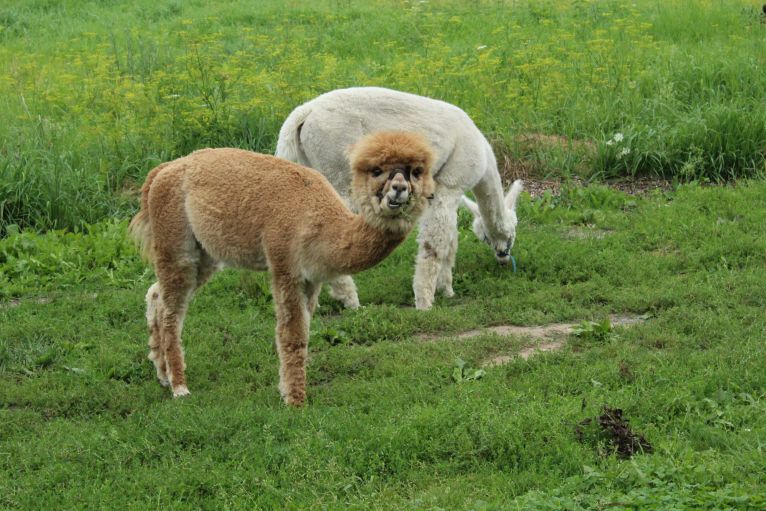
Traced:
[[0, 234], [125, 216], [158, 162], [271, 152], [292, 108], [352, 85], [453, 102], [530, 172], [757, 175], [764, 30], [754, 0], [5, 2]]

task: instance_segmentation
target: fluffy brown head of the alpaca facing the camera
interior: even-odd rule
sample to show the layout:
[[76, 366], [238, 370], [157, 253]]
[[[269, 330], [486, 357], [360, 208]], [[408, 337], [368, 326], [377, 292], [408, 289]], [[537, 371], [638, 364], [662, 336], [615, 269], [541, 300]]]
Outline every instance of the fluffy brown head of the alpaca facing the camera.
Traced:
[[351, 197], [368, 222], [409, 231], [433, 197], [433, 151], [414, 133], [377, 132], [349, 149]]

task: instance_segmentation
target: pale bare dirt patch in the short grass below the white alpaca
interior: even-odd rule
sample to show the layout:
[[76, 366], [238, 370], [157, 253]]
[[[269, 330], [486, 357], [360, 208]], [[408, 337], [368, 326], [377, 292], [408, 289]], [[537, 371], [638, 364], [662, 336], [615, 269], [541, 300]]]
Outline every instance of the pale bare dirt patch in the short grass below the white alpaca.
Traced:
[[[621, 314], [612, 314], [609, 316], [609, 321], [612, 326], [633, 325], [644, 321], [644, 319], [645, 318], [640, 316]], [[549, 325], [540, 326], [499, 325], [489, 328], [467, 330], [453, 335], [424, 334], [419, 336], [418, 339], [426, 342], [436, 342], [445, 339], [465, 340], [480, 335], [494, 334], [501, 337], [513, 336], [536, 341], [535, 344], [521, 349], [518, 353], [498, 354], [484, 361], [482, 364], [484, 367], [491, 367], [508, 364], [515, 358], [527, 360], [538, 353], [559, 350], [564, 347], [567, 336], [572, 333], [573, 329], [578, 324], [579, 323], [551, 323]]]

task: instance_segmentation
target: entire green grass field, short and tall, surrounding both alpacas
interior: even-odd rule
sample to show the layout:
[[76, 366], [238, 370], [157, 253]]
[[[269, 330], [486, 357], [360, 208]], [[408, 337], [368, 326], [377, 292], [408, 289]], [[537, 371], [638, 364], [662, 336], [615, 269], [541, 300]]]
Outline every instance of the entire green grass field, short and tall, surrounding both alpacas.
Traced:
[[[0, 509], [766, 509], [759, 13], [3, 3]], [[509, 167], [564, 181], [522, 194], [518, 272], [461, 211], [456, 296], [415, 311], [412, 236], [357, 279], [365, 307], [321, 297], [301, 409], [279, 399], [267, 275], [222, 272], [192, 302], [192, 395], [172, 400], [146, 359], [137, 186], [199, 147], [271, 152], [294, 106], [364, 84], [456, 103]], [[555, 137], [571, 143], [529, 143]], [[640, 175], [673, 185], [598, 184]], [[458, 338], [556, 322], [580, 328], [528, 360], [539, 339]], [[619, 456], [604, 407], [651, 449]]]

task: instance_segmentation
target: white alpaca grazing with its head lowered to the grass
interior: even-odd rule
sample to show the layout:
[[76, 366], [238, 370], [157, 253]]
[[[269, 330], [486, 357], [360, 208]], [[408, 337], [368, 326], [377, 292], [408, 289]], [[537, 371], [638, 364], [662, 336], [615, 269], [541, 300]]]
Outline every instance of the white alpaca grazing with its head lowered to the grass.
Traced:
[[[434, 148], [434, 200], [420, 221], [413, 290], [415, 306], [429, 309], [437, 289], [453, 296], [452, 266], [457, 251], [457, 208], [466, 190], [478, 205], [466, 202], [476, 217], [474, 231], [507, 264], [516, 237], [516, 199], [521, 181], [503, 193], [497, 162], [487, 139], [468, 115], [443, 101], [377, 87], [341, 89], [323, 94], [292, 111], [279, 132], [276, 155], [322, 172], [348, 197], [351, 172], [345, 148], [367, 133], [405, 130], [422, 133]], [[354, 281], [330, 283], [332, 296], [358, 307]]]

